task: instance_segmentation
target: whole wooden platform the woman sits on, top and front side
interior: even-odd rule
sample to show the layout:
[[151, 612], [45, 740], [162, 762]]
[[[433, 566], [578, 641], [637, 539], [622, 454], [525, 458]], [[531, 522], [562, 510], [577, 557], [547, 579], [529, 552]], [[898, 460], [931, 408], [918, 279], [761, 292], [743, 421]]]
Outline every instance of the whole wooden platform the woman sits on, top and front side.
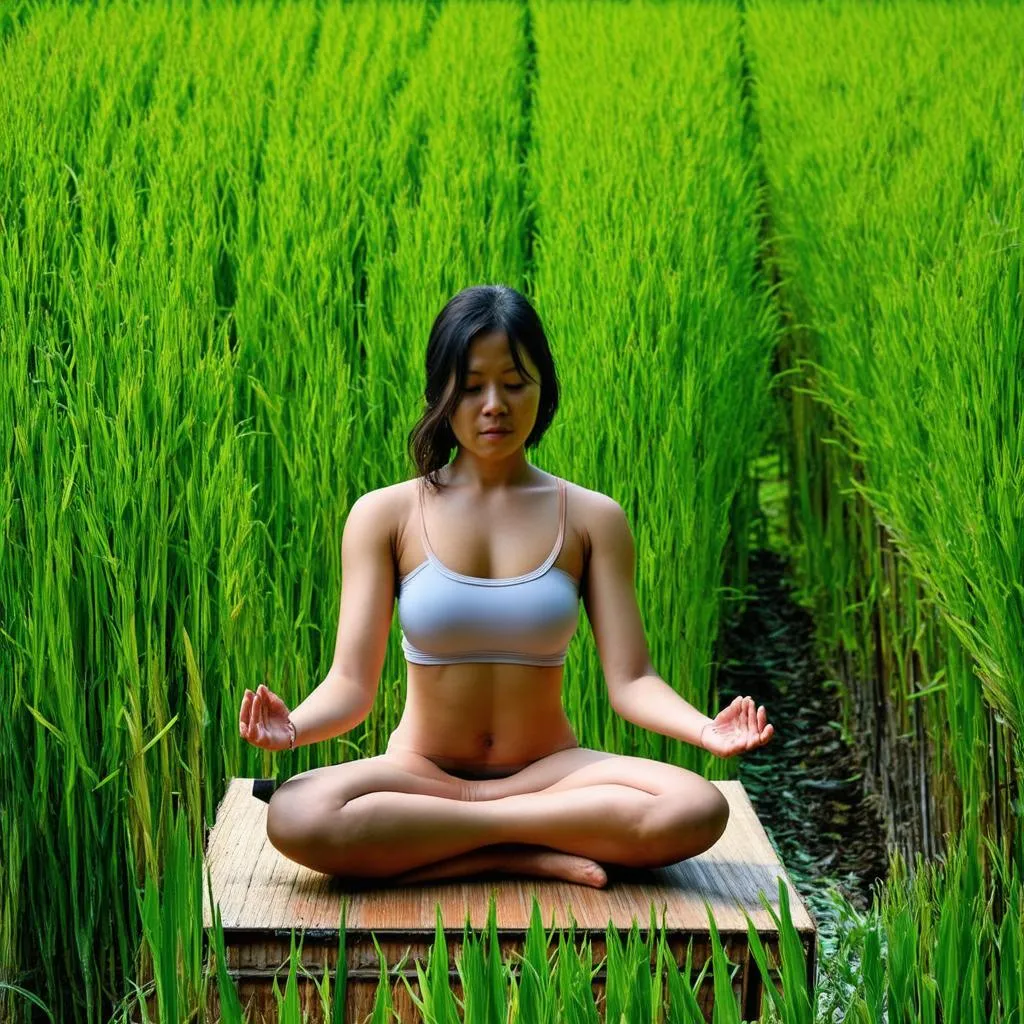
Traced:
[[[629, 881], [611, 881], [605, 889], [539, 879], [479, 879], [424, 883], [418, 886], [346, 888], [338, 880], [308, 870], [283, 857], [266, 839], [267, 805], [252, 795], [253, 779], [236, 778], [227, 787], [210, 830], [204, 868], [204, 926], [213, 919], [205, 886], [209, 868], [214, 899], [220, 907], [228, 959], [248, 1020], [276, 1021], [271, 979], [278, 974], [282, 991], [288, 970], [290, 933], [296, 940], [304, 931], [302, 961], [306, 970], [322, 977], [332, 975], [337, 963], [341, 902], [348, 900], [346, 961], [348, 990], [346, 1021], [362, 1022], [373, 1010], [379, 979], [379, 961], [373, 933], [389, 967], [408, 957], [402, 973], [419, 991], [414, 961], [426, 966], [434, 939], [435, 904], [441, 907], [447, 940], [452, 987], [461, 995], [455, 957], [462, 946], [467, 915], [470, 927], [482, 930], [492, 892], [497, 897], [498, 932], [503, 959], [521, 950], [529, 924], [531, 899], [540, 903], [546, 930], [552, 921], [559, 927], [575, 922], [577, 936], [589, 939], [594, 964], [604, 956], [609, 922], [625, 939], [636, 920], [641, 933], [650, 926], [653, 901], [658, 927], [663, 912], [666, 934], [680, 967], [686, 946], [693, 941], [693, 967], [699, 971], [710, 957], [710, 933], [703, 900], [711, 904], [726, 954], [739, 971], [733, 992], [745, 1020], [760, 1016], [762, 981], [748, 952], [745, 909], [762, 942], [777, 959], [778, 935], [758, 897], [764, 892], [778, 912], [778, 878], [785, 880], [794, 925], [800, 933], [813, 985], [816, 926], [775, 856], [740, 782], [716, 782], [729, 801], [731, 814], [725, 834], [709, 851], [669, 867], [638, 870]], [[333, 978], [332, 978], [333, 983]], [[303, 1011], [310, 1020], [318, 1015], [318, 995], [309, 982], [300, 986]], [[394, 979], [395, 1010], [402, 1022], [420, 1020], [400, 978]], [[603, 995], [603, 973], [595, 978], [596, 996]], [[711, 969], [699, 993], [706, 1017], [713, 1008]], [[601, 1004], [598, 1004], [600, 1010]]]

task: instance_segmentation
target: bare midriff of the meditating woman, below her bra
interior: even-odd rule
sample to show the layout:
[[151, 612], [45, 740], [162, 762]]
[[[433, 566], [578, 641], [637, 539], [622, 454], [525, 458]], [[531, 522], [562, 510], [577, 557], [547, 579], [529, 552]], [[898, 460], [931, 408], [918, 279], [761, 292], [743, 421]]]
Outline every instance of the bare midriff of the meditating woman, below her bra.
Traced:
[[578, 746], [561, 703], [562, 666], [414, 665], [388, 751], [453, 774], [499, 778]]

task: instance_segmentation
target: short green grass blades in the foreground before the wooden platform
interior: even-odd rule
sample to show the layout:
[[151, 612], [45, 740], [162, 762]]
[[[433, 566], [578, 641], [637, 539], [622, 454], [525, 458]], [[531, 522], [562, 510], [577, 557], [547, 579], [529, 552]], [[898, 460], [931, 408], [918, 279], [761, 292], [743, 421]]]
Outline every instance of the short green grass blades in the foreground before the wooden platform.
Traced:
[[[895, 852], [887, 881], [870, 908], [863, 914], [848, 908], [847, 939], [836, 950], [837, 963], [822, 965], [813, 989], [808, 987], [804, 950], [793, 926], [784, 885], [779, 884], [771, 902], [768, 894], [762, 894], [777, 929], [779, 954], [764, 948], [748, 921], [755, 963], [763, 977], [777, 979], [764, 986], [759, 1019], [781, 1024], [825, 1020], [1012, 1024], [1020, 1020], [1024, 1014], [1024, 873], [1020, 863], [1006, 861], [999, 848], [993, 847], [992, 862], [999, 880], [996, 891], [992, 880], [986, 882], [975, 855], [982, 842], [977, 833], [967, 830], [951, 837], [944, 860], [925, 862], [919, 857], [912, 867]], [[163, 892], [158, 895], [147, 886], [142, 898], [145, 941], [152, 944], [157, 965], [155, 978], [146, 988], [126, 996], [114, 1020], [127, 1024], [206, 1013], [214, 1005], [214, 989], [220, 1020], [232, 1024], [244, 1019], [225, 966], [219, 914], [210, 931], [207, 953], [198, 962], [201, 891], [207, 884], [200, 860], [190, 853], [184, 817], [178, 816], [168, 847]], [[993, 922], [996, 900], [1000, 919]], [[388, 1020], [397, 989], [406, 988], [427, 1022], [689, 1024], [703, 1019], [699, 1006], [705, 986], [711, 985], [715, 990], [711, 1019], [738, 1024], [740, 1015], [729, 983], [735, 965], [725, 957], [710, 911], [708, 920], [712, 955], [698, 969], [692, 947], [683, 964], [676, 963], [653, 908], [647, 925], [634, 921], [625, 935], [609, 926], [604, 934], [606, 953], [599, 961], [594, 958], [591, 940], [578, 935], [574, 927], [545, 929], [536, 900], [522, 951], [503, 959], [498, 942], [501, 922], [492, 900], [479, 934], [468, 923], [462, 928], [461, 947], [453, 964], [447, 947], [453, 923], [443, 923], [438, 915], [425, 963], [388, 964], [377, 946], [380, 980], [371, 1019]], [[301, 933], [293, 933], [288, 962], [273, 982], [278, 1019], [298, 1024], [300, 1009], [316, 1010], [325, 1020], [347, 1019], [343, 1011], [347, 972], [325, 973], [319, 980], [308, 977], [302, 941]], [[339, 964], [346, 964], [349, 941], [343, 904]], [[175, 973], [175, 957], [190, 970]], [[450, 986], [452, 968], [459, 977], [459, 994]], [[835, 976], [844, 970], [846, 984], [841, 985]], [[416, 979], [415, 987], [411, 976]], [[595, 977], [605, 982], [603, 994], [596, 997]]]

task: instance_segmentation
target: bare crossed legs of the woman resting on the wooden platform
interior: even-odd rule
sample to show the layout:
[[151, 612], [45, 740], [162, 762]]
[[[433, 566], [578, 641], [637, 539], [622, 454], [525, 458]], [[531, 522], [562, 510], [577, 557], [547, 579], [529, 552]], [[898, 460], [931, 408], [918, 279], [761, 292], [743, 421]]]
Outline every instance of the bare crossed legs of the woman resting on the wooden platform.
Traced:
[[645, 758], [570, 748], [506, 778], [467, 780], [396, 751], [289, 779], [267, 835], [329, 874], [404, 883], [498, 869], [599, 886], [596, 861], [673, 863], [707, 850], [727, 820], [717, 787]]

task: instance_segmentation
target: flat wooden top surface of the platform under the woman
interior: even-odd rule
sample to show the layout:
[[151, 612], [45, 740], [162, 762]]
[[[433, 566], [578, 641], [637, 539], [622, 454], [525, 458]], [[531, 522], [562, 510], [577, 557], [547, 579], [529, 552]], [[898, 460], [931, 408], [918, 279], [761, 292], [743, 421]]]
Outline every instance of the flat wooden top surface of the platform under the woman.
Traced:
[[[502, 930], [524, 930], [530, 902], [537, 897], [545, 928], [574, 919], [578, 928], [604, 929], [609, 922], [641, 929], [650, 921], [675, 931], [708, 934], [707, 899], [721, 932], [745, 932], [743, 910], [762, 935], [776, 934], [774, 923], [758, 899], [758, 890], [778, 911], [777, 879], [790, 895], [794, 925], [802, 933], [816, 931], [799, 894], [779, 863], [754, 807], [738, 781], [716, 781], [729, 801], [726, 830], [712, 849], [668, 867], [628, 872], [605, 889], [539, 879], [465, 880], [419, 886], [346, 887], [295, 864], [266, 839], [267, 805], [252, 796], [252, 779], [230, 781], [211, 829], [206, 862], [214, 881], [214, 897], [226, 930], [337, 930], [341, 900], [348, 899], [347, 927], [374, 932], [432, 932], [435, 902], [440, 902], [445, 929], [463, 927], [467, 914], [474, 929], [486, 923], [487, 899], [497, 897]], [[212, 924], [204, 893], [204, 924]]]

